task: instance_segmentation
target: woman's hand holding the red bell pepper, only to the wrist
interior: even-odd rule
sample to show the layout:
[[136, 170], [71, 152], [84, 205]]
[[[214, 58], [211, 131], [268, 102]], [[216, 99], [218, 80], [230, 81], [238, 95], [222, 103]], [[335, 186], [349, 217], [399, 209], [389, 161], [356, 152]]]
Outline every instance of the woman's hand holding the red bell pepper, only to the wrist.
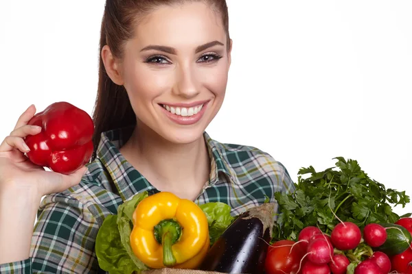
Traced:
[[24, 153], [29, 151], [24, 138], [41, 132], [41, 127], [27, 125], [36, 112], [34, 105], [23, 114], [0, 145], [0, 192], [19, 190], [42, 197], [49, 193], [61, 192], [80, 182], [87, 168], [82, 167], [70, 175], [45, 171], [43, 167], [30, 162]]

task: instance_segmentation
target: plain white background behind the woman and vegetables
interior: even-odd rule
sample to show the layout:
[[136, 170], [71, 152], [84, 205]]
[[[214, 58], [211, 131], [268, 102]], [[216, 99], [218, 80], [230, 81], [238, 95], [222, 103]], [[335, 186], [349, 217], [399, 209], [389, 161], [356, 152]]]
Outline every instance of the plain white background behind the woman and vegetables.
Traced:
[[[294, 181], [303, 166], [352, 158], [412, 196], [412, 1], [227, 3], [233, 61], [211, 137], [271, 153]], [[1, 139], [31, 103], [91, 114], [103, 9], [0, 0]]]

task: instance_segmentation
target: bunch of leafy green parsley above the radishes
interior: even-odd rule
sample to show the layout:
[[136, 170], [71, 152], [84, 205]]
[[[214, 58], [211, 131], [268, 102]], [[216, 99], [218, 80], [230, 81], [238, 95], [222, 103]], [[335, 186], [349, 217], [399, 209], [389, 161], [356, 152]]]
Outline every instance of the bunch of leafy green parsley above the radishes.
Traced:
[[275, 193], [279, 216], [272, 241], [297, 240], [301, 229], [310, 225], [330, 234], [339, 222], [332, 210], [342, 221], [351, 221], [361, 229], [368, 223], [395, 223], [400, 219], [390, 204], [404, 207], [409, 203], [404, 191], [386, 189], [369, 178], [356, 160], [334, 159], [336, 166], [325, 171], [317, 172], [313, 166], [300, 169], [292, 194]]

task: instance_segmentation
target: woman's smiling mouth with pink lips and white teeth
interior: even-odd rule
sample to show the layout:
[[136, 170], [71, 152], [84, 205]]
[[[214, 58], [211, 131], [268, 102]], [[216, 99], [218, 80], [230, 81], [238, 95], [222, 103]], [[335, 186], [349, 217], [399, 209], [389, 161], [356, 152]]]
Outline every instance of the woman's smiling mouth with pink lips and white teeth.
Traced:
[[209, 101], [203, 101], [185, 106], [161, 103], [159, 106], [172, 122], [179, 125], [193, 125], [202, 119], [208, 103]]

